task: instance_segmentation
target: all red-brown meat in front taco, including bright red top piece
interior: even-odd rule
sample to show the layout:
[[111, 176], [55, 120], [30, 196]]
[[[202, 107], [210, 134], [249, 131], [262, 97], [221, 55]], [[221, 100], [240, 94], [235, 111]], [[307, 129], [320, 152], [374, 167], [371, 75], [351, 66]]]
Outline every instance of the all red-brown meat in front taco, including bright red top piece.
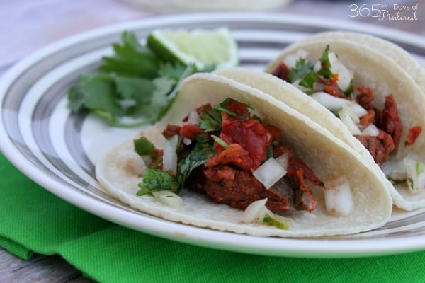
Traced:
[[273, 156], [288, 153], [288, 172], [280, 182], [290, 188], [290, 197], [285, 197], [276, 187], [267, 189], [252, 175], [265, 160], [271, 141], [282, 137], [280, 129], [251, 119], [243, 103], [232, 100], [226, 108], [248, 119], [222, 112], [220, 139], [229, 146], [224, 149], [215, 143], [215, 154], [191, 173], [186, 187], [237, 209], [246, 209], [252, 202], [267, 198], [266, 207], [272, 212], [288, 211], [293, 207], [312, 212], [317, 201], [306, 180], [320, 187], [324, 187], [323, 182], [288, 146], [279, 142], [273, 144]]

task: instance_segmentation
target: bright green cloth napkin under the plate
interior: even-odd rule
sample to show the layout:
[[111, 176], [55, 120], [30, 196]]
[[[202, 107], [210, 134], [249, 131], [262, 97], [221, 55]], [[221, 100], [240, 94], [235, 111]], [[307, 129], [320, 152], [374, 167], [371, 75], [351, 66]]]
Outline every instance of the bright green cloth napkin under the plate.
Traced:
[[425, 252], [302, 259], [212, 250], [84, 212], [43, 190], [1, 154], [0, 177], [0, 245], [21, 258], [60, 254], [99, 282], [424, 282]]

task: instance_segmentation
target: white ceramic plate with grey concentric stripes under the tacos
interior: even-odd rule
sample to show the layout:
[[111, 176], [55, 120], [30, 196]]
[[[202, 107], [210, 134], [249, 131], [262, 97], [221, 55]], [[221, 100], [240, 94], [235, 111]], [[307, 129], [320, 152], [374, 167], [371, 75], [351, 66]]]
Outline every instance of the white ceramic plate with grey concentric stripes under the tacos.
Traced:
[[62, 40], [18, 62], [0, 82], [1, 150], [23, 173], [77, 207], [145, 233], [210, 248], [296, 257], [348, 257], [425, 248], [425, 210], [395, 211], [381, 229], [331, 238], [261, 238], [200, 229], [157, 219], [108, 197], [94, 179], [94, 163], [140, 129], [114, 129], [96, 117], [70, 115], [67, 89], [96, 69], [123, 30], [143, 40], [153, 28], [232, 30], [243, 67], [263, 69], [294, 40], [339, 28], [392, 40], [425, 62], [425, 40], [397, 30], [300, 16], [209, 13], [147, 18]]

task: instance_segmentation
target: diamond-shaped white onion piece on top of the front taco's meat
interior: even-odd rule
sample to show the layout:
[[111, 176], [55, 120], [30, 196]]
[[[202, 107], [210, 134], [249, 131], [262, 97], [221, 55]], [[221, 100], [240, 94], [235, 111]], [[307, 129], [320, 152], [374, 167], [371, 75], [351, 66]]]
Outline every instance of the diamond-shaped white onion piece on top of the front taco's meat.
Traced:
[[273, 157], [268, 158], [266, 162], [261, 164], [261, 166], [256, 168], [256, 170], [252, 173], [252, 175], [254, 175], [254, 177], [267, 189], [274, 185], [285, 174], [286, 169], [280, 166]]

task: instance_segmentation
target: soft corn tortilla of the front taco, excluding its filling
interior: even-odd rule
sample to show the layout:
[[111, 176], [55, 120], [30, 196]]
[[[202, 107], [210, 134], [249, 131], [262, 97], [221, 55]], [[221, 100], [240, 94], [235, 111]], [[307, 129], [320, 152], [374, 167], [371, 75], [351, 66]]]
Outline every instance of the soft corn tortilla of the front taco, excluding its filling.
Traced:
[[[292, 86], [291, 86], [292, 88]], [[108, 194], [130, 207], [162, 219], [206, 227], [220, 231], [247, 233], [255, 236], [317, 237], [358, 233], [375, 229], [389, 219], [392, 200], [385, 183], [361, 156], [339, 139], [284, 103], [255, 88], [237, 83], [215, 74], [195, 74], [182, 84], [179, 95], [164, 120], [142, 132], [159, 148], [164, 144], [162, 129], [168, 123], [181, 124], [191, 110], [205, 103], [216, 105], [227, 97], [253, 105], [263, 115], [263, 120], [283, 131], [286, 143], [307, 163], [319, 178], [345, 175], [351, 183], [354, 209], [348, 216], [333, 216], [326, 212], [322, 188], [312, 187], [318, 202], [313, 212], [288, 212], [288, 230], [264, 224], [243, 224], [242, 210], [212, 202], [206, 195], [183, 190], [181, 197], [186, 205], [173, 209], [150, 195], [138, 197], [137, 183], [142, 171], [135, 170], [137, 160], [132, 141], [113, 149], [96, 166], [96, 177]], [[137, 166], [136, 166], [137, 168]]]

